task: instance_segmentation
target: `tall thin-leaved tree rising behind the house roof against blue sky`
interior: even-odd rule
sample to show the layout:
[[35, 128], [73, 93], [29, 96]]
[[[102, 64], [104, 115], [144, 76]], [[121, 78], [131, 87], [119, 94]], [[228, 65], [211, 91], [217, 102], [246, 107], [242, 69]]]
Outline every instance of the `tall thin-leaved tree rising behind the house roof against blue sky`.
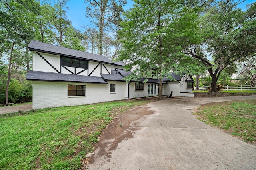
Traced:
[[122, 19], [122, 6], [126, 4], [126, 0], [85, 0], [85, 3], [88, 4], [86, 16], [92, 18], [92, 22], [98, 27], [98, 53], [102, 55], [104, 32], [114, 35]]

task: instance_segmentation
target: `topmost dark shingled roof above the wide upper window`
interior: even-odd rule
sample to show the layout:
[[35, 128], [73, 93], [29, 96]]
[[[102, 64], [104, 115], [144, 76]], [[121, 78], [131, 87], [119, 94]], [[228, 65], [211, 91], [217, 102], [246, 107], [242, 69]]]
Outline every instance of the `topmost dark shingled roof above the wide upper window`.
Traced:
[[31, 51], [38, 51], [43, 53], [50, 53], [54, 55], [64, 55], [66, 57], [74, 57], [74, 58], [81, 58], [90, 61], [96, 61], [100, 63], [112, 64], [114, 62], [108, 59], [103, 55], [97, 55], [92, 53], [87, 53], [84, 51], [78, 51], [74, 49], [69, 49], [65, 47], [60, 47], [58, 45], [52, 45], [48, 43], [42, 43], [40, 41], [32, 40], [28, 45], [29, 50]]

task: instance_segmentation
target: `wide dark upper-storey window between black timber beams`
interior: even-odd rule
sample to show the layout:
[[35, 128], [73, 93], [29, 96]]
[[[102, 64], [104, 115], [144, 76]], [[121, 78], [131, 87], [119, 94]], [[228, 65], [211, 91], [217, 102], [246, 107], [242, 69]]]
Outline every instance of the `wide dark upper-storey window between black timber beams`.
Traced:
[[88, 68], [88, 61], [62, 57], [62, 66], [69, 66], [69, 67], [87, 69]]

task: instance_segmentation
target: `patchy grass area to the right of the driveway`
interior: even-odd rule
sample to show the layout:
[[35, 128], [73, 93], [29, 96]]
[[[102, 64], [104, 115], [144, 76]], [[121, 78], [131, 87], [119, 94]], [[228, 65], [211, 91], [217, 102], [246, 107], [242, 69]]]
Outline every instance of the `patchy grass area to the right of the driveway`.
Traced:
[[194, 113], [200, 121], [256, 145], [256, 100], [205, 104]]

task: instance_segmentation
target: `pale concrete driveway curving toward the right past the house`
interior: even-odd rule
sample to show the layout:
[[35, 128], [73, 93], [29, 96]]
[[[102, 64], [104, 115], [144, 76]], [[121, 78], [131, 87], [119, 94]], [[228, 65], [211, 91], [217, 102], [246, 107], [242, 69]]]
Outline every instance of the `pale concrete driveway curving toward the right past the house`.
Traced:
[[[89, 170], [255, 170], [256, 147], [206, 125], [192, 115], [200, 104], [256, 96], [173, 98], [147, 104], [155, 113], [131, 125], [111, 158], [97, 157]], [[134, 127], [133, 127], [134, 126]], [[107, 146], [106, 146], [107, 147]]]

